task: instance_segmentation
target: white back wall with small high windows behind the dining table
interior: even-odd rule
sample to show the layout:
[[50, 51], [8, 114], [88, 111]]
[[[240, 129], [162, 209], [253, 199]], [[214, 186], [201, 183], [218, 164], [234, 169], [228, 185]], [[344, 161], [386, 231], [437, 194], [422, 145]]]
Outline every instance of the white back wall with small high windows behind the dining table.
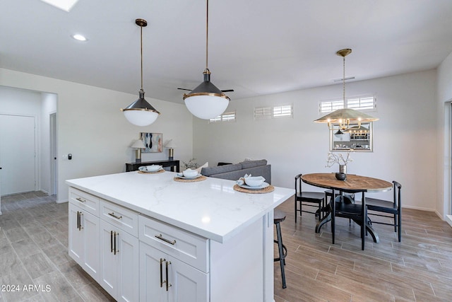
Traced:
[[[436, 71], [424, 71], [369, 81], [347, 83], [347, 96], [376, 96], [379, 117], [374, 122], [374, 152], [352, 154], [348, 173], [403, 185], [405, 207], [436, 207]], [[233, 95], [230, 95], [233, 97]], [[320, 100], [342, 97], [342, 85], [232, 100], [237, 122], [208, 124], [194, 118], [194, 157], [198, 163], [237, 163], [244, 158], [266, 158], [272, 165], [272, 183], [293, 187], [298, 173], [335, 172], [325, 168], [328, 129], [315, 124]], [[254, 121], [254, 107], [293, 103], [290, 120]], [[320, 190], [311, 187], [312, 190]], [[387, 196], [383, 196], [383, 195]], [[391, 192], [379, 197], [390, 198]]]

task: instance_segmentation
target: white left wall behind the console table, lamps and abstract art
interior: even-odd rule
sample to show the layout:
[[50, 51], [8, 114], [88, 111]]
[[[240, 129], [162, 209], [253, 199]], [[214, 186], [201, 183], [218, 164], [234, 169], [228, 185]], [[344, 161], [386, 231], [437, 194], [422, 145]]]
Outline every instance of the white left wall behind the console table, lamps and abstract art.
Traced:
[[[134, 161], [129, 146], [139, 132], [162, 133], [164, 141], [174, 139], [175, 158], [192, 156], [192, 115], [182, 104], [147, 98], [162, 115], [148, 127], [136, 127], [119, 108], [138, 98], [138, 88], [132, 95], [8, 69], [0, 69], [0, 85], [58, 95], [59, 202], [68, 199], [64, 180], [124, 171], [124, 163]], [[68, 153], [73, 160], [62, 159]], [[143, 159], [165, 158], [166, 150]]]

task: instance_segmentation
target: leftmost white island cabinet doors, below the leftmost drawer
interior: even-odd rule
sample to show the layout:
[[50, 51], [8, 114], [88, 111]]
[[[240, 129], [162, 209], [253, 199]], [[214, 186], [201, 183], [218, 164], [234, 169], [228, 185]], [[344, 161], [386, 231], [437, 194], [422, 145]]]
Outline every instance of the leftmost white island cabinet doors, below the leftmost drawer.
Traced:
[[99, 276], [99, 218], [69, 203], [69, 255], [95, 280]]

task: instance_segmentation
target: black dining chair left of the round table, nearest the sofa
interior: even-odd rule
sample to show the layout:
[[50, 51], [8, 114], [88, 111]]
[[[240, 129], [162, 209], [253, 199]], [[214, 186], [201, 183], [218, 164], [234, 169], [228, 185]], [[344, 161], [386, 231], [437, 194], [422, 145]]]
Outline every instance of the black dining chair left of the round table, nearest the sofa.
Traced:
[[[316, 207], [317, 210], [315, 212], [306, 211], [302, 209], [303, 206]], [[297, 223], [297, 211], [299, 211], [299, 216], [302, 216], [303, 211], [311, 214], [316, 214], [316, 216], [319, 216], [320, 220], [322, 218], [324, 207], [325, 207], [325, 193], [304, 192], [302, 190], [302, 174], [295, 176], [295, 223]]]

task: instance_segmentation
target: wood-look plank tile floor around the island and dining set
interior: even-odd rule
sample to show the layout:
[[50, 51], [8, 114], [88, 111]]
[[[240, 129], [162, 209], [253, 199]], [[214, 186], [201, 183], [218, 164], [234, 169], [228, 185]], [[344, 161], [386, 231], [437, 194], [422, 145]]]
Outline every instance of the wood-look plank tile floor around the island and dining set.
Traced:
[[[452, 228], [434, 213], [404, 209], [402, 243], [391, 226], [376, 225], [381, 242], [367, 238], [362, 251], [347, 219], [338, 219], [332, 245], [329, 223], [316, 234], [313, 214], [295, 225], [292, 199], [278, 208], [287, 214], [287, 289], [275, 262], [275, 302], [452, 301]], [[32, 192], [2, 197], [1, 211], [0, 302], [114, 301], [68, 256], [67, 203]], [[37, 287], [24, 289], [30, 284]]]

